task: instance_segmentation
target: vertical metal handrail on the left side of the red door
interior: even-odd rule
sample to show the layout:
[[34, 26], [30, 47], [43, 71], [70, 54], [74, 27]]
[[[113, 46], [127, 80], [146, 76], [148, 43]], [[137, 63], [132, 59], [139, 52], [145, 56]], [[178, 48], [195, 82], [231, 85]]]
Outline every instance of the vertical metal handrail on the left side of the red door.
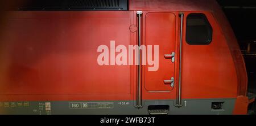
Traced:
[[137, 87], [137, 108], [142, 108], [141, 96], [141, 16], [142, 11], [137, 11], [138, 16], [138, 87]]

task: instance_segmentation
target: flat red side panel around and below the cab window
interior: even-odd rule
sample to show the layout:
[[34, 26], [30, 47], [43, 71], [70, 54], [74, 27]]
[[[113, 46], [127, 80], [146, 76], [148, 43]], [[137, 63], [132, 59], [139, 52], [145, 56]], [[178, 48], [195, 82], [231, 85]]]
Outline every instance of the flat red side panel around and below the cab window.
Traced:
[[[185, 15], [189, 13], [185, 12]], [[183, 37], [183, 97], [236, 98], [237, 75], [229, 47], [223, 34], [218, 32], [221, 29], [214, 17], [208, 12], [204, 14], [213, 27], [212, 42], [209, 45], [188, 45]]]

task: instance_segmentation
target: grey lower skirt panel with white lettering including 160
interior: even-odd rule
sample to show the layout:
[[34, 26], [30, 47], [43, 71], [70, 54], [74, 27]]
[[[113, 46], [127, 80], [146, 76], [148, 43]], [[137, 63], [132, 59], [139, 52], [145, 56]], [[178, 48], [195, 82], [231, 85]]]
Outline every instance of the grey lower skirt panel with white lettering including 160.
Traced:
[[[222, 109], [212, 109], [212, 102], [224, 102]], [[236, 99], [184, 99], [183, 107], [175, 100], [146, 100], [143, 108], [135, 101], [20, 101], [0, 102], [0, 114], [149, 114], [148, 106], [168, 105], [168, 114], [232, 114]]]

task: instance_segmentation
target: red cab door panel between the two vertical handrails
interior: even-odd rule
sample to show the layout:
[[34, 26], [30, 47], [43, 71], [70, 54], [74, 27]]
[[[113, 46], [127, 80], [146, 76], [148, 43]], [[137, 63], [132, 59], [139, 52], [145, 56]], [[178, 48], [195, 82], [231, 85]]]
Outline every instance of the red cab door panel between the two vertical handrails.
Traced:
[[163, 84], [163, 80], [171, 80], [171, 77], [174, 77], [175, 67], [171, 59], [164, 58], [164, 54], [175, 52], [175, 14], [170, 12], [148, 12], [144, 17], [144, 45], [159, 46], [158, 71], [148, 71], [148, 67], [151, 67], [148, 65], [144, 68], [145, 89], [148, 92], [170, 91], [173, 88], [170, 85]]

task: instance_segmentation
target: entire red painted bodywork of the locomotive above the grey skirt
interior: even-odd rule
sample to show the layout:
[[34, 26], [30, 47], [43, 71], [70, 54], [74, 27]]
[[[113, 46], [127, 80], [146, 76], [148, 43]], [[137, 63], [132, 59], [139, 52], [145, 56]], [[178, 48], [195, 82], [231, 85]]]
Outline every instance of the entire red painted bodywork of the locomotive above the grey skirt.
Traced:
[[[205, 14], [213, 28], [209, 45], [188, 45], [183, 28], [181, 98], [245, 94], [241, 52], [216, 3], [172, 2], [131, 0], [130, 11], [10, 12], [0, 39], [0, 101], [135, 100], [137, 67], [99, 66], [97, 47], [110, 47], [112, 40], [116, 46], [137, 45], [137, 32], [129, 29], [137, 25], [137, 10], [143, 11], [142, 44], [160, 50], [158, 71], [142, 67], [143, 99], [176, 98], [180, 11], [185, 18]], [[172, 51], [175, 63], [163, 57]], [[174, 88], [163, 84], [172, 76]]]

